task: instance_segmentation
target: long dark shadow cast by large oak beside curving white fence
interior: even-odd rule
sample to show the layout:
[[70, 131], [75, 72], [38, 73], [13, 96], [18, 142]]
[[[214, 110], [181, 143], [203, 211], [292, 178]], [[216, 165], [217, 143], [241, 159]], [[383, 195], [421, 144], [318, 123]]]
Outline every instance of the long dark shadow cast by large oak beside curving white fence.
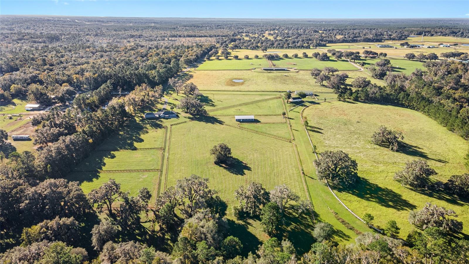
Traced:
[[374, 202], [386, 208], [398, 211], [414, 210], [417, 207], [404, 199], [401, 194], [393, 190], [381, 187], [368, 179], [359, 178], [356, 186], [351, 188], [337, 188], [340, 192], [352, 194], [367, 202]]

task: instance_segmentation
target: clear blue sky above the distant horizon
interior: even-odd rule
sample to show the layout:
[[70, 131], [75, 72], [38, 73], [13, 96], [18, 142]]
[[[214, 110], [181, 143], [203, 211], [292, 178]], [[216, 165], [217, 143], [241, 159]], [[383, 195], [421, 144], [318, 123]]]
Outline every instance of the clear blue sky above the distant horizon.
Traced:
[[469, 18], [469, 0], [0, 0], [0, 14], [221, 18]]

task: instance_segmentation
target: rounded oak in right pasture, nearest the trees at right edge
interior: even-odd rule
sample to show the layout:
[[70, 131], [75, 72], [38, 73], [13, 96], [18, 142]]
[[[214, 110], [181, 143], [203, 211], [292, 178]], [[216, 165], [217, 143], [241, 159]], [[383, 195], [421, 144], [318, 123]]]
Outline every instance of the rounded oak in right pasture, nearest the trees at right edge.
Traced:
[[436, 174], [425, 160], [418, 159], [407, 162], [404, 170], [396, 172], [394, 179], [401, 182], [402, 186], [421, 188], [427, 186], [431, 175]]

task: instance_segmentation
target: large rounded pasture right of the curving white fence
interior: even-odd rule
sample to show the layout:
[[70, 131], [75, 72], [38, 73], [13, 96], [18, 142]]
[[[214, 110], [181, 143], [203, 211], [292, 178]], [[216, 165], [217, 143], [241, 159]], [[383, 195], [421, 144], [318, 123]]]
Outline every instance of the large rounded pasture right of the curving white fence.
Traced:
[[[310, 135], [318, 148], [343, 150], [358, 163], [361, 180], [354, 189], [335, 190], [340, 199], [356, 214], [374, 215], [374, 224], [385, 226], [395, 220], [405, 238], [413, 226], [408, 223], [410, 210], [420, 210], [425, 202], [453, 209], [469, 233], [469, 204], [445, 194], [415, 191], [393, 180], [405, 163], [425, 159], [438, 172], [432, 179], [446, 181], [453, 174], [467, 172], [464, 155], [469, 144], [431, 118], [414, 110], [367, 103], [327, 102], [304, 111]], [[379, 126], [403, 133], [411, 147], [393, 152], [371, 143]]]

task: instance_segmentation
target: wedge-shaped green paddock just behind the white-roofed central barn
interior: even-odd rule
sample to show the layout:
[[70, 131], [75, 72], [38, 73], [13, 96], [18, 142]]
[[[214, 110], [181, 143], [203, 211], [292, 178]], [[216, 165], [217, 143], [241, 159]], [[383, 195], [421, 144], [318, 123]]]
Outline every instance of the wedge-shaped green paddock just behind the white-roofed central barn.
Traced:
[[282, 99], [273, 99], [262, 101], [254, 104], [247, 104], [233, 108], [213, 111], [213, 115], [266, 115], [276, 114], [280, 115], [284, 111], [282, 106]]

